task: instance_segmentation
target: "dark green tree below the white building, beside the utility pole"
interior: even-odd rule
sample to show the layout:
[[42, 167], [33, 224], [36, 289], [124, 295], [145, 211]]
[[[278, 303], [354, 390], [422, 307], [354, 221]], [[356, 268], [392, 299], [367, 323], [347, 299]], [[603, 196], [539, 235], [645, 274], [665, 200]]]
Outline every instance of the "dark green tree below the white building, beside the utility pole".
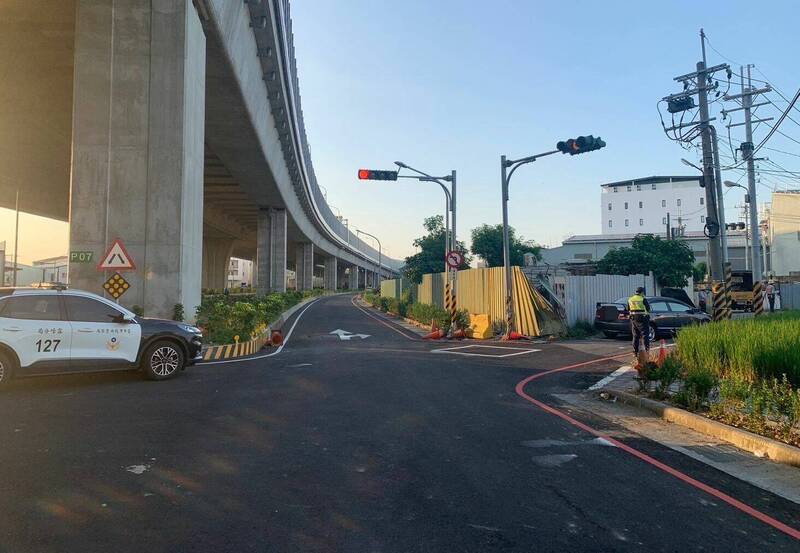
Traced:
[[597, 263], [597, 272], [607, 275], [647, 274], [653, 271], [660, 286], [684, 287], [693, 273], [694, 253], [683, 240], [663, 240], [640, 234], [630, 248], [608, 252]]

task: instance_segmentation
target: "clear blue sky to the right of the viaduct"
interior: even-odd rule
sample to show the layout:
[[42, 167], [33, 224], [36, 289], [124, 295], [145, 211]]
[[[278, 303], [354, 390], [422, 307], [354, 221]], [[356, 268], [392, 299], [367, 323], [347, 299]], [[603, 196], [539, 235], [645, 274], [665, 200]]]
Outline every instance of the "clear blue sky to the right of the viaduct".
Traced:
[[[378, 234], [394, 257], [413, 252], [423, 218], [443, 211], [442, 192], [430, 183], [358, 181], [359, 167], [391, 169], [402, 160], [431, 173], [457, 169], [458, 231], [468, 241], [473, 227], [501, 220], [500, 154], [523, 157], [560, 139], [600, 135], [603, 150], [544, 158], [514, 176], [512, 226], [555, 245], [601, 231], [601, 183], [694, 171], [680, 158], [698, 154], [665, 137], [656, 102], [679, 90], [674, 76], [694, 70], [700, 27], [737, 72], [754, 63], [790, 98], [800, 86], [798, 14], [788, 1], [293, 0], [291, 10], [319, 182], [329, 203]], [[725, 61], [711, 49], [708, 60]], [[770, 106], [759, 115], [768, 111], [779, 115]], [[757, 130], [756, 143], [766, 130]], [[781, 130], [800, 139], [790, 121]], [[734, 130], [734, 144], [741, 140]], [[768, 146], [800, 155], [781, 136]], [[769, 157], [800, 171], [800, 157]], [[759, 201], [776, 184], [792, 185], [764, 173]], [[729, 220], [739, 192], [726, 194]]]

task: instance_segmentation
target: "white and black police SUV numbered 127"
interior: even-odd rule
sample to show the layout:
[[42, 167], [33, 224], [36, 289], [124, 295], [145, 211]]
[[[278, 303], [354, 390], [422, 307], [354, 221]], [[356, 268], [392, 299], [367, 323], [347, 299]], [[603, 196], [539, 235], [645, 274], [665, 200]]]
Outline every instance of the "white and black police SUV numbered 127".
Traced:
[[201, 358], [200, 329], [139, 317], [65, 287], [0, 288], [0, 387], [13, 377], [139, 368], [151, 380]]

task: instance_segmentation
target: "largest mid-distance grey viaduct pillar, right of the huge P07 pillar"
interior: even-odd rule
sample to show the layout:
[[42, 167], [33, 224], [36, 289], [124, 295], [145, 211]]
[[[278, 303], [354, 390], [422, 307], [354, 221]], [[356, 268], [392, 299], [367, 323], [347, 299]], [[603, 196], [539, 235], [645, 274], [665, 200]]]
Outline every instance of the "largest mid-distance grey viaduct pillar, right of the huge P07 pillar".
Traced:
[[286, 210], [262, 208], [256, 237], [256, 292], [286, 291]]

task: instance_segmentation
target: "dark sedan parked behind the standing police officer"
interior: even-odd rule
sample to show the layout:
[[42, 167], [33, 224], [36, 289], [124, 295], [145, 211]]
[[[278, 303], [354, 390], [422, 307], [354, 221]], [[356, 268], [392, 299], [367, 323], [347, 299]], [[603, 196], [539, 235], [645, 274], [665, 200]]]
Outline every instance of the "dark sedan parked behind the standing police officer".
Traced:
[[[674, 334], [681, 327], [705, 324], [711, 321], [706, 313], [673, 298], [648, 297], [650, 303], [650, 340], [659, 335]], [[620, 334], [630, 336], [631, 323], [628, 313], [628, 298], [614, 302], [598, 303], [594, 327], [609, 338]]]

